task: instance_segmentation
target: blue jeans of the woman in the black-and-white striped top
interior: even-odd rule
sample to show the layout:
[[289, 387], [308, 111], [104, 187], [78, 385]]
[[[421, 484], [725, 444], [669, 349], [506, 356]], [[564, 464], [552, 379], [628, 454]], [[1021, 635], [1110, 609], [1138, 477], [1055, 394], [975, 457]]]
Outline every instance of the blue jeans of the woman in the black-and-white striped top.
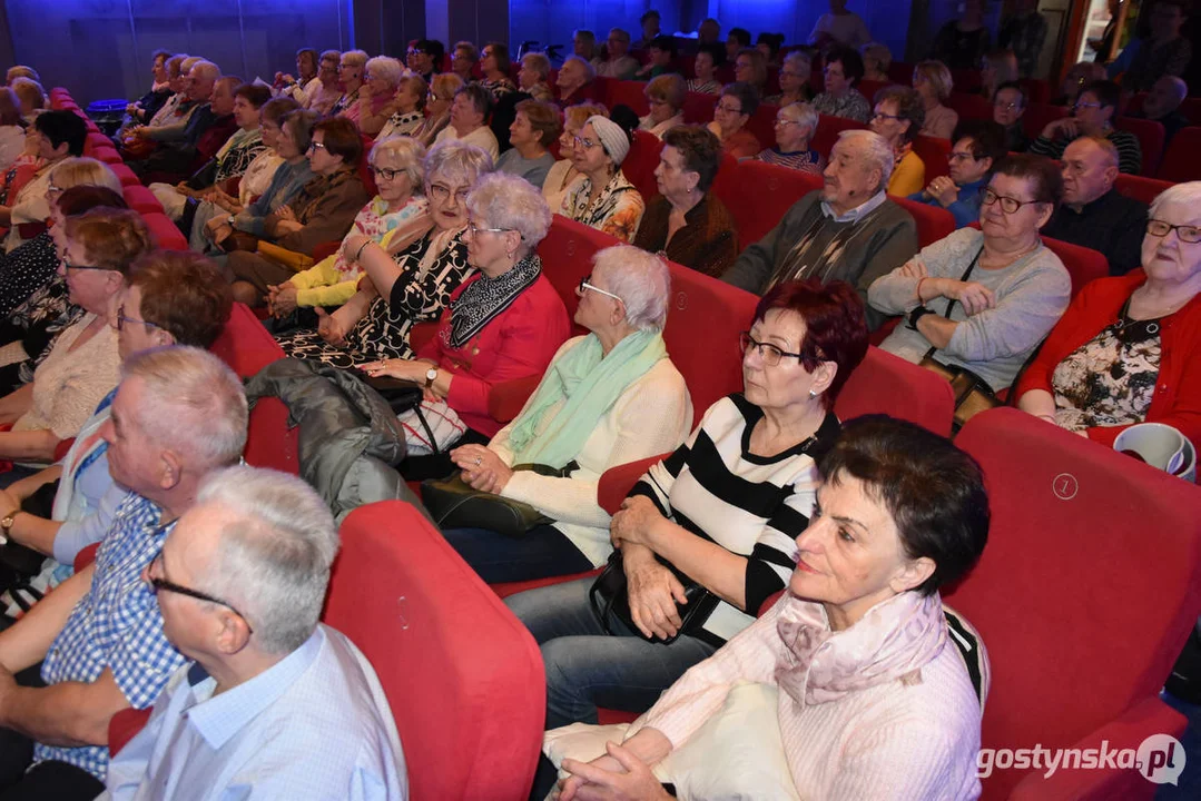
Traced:
[[504, 599], [542, 647], [546, 729], [596, 723], [597, 707], [645, 712], [688, 668], [717, 650], [694, 636], [649, 642], [617, 620], [605, 634], [592, 611], [594, 579], [539, 587]]

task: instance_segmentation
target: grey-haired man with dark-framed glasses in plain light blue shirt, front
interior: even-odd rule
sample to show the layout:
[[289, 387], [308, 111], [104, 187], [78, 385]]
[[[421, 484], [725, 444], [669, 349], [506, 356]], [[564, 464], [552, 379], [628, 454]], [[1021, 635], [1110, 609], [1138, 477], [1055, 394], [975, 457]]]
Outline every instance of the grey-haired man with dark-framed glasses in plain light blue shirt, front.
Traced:
[[405, 757], [366, 657], [318, 623], [337, 530], [297, 477], [210, 477], [143, 578], [193, 662], [113, 759], [102, 799], [407, 797]]

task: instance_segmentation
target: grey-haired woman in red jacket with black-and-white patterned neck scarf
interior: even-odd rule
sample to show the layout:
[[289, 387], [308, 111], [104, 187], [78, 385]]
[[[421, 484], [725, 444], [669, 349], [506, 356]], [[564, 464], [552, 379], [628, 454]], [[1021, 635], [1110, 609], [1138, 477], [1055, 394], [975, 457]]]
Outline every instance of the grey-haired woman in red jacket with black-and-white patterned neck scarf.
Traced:
[[479, 271], [450, 297], [438, 333], [416, 359], [363, 365], [368, 375], [425, 387], [424, 423], [416, 411], [400, 416], [410, 456], [444, 453], [465, 436], [488, 442], [502, 425], [488, 413], [492, 384], [540, 376], [570, 331], [567, 307], [534, 253], [550, 229], [542, 192], [518, 175], [491, 173], [466, 207], [467, 261]]

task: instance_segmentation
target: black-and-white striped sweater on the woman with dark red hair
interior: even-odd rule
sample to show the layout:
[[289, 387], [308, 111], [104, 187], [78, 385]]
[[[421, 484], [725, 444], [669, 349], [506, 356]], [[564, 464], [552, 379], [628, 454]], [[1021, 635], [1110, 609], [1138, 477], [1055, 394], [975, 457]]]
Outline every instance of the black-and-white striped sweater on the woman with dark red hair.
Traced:
[[721, 602], [695, 635], [721, 646], [754, 621], [788, 582], [796, 536], [809, 525], [819, 484], [815, 460], [839, 432], [827, 414], [805, 442], [776, 454], [751, 453], [763, 410], [741, 393], [709, 407], [692, 436], [656, 464], [631, 495], [645, 495], [673, 522], [747, 558], [747, 610]]

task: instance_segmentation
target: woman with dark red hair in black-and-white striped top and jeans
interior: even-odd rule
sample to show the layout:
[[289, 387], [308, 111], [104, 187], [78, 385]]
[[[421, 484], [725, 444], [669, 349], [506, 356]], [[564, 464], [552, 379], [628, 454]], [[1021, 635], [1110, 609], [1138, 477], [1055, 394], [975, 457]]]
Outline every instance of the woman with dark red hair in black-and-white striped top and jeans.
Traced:
[[[759, 303], [742, 351], [745, 390], [711, 406], [613, 519], [614, 569], [627, 580], [614, 609], [628, 605], [632, 624], [613, 611], [602, 620], [592, 578], [508, 598], [542, 646], [548, 729], [596, 723], [597, 706], [649, 709], [788, 582], [817, 494], [815, 460], [838, 436], [835, 397], [867, 352], [862, 301], [841, 281], [779, 283]], [[673, 567], [713, 596], [686, 626]]]

